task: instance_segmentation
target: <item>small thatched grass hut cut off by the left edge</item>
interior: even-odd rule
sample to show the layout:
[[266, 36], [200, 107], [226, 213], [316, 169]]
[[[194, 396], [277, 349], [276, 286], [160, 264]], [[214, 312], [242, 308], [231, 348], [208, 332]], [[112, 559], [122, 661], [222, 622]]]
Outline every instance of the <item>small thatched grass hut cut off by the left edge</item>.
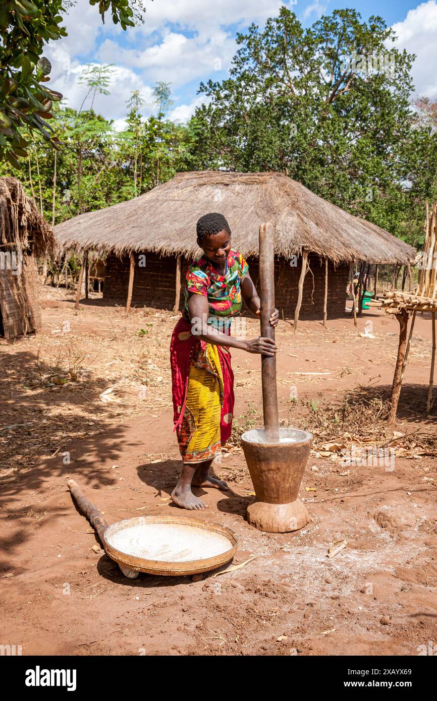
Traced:
[[0, 178], [0, 336], [41, 329], [36, 257], [53, 252], [55, 237], [14, 177]]

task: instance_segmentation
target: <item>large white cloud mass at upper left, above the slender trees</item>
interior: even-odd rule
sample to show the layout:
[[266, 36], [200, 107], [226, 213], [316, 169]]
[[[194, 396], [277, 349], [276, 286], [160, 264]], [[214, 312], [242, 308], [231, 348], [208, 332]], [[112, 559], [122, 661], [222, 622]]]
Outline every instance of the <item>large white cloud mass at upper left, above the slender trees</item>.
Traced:
[[[68, 36], [51, 41], [44, 52], [53, 65], [51, 86], [66, 96], [68, 104], [79, 108], [84, 93], [78, 78], [86, 62], [114, 63], [117, 71], [111, 95], [97, 96], [95, 109], [120, 120], [130, 93], [140, 90], [150, 103], [144, 113], [150, 114], [154, 83], [165, 81], [175, 88], [208, 79], [217, 69], [228, 69], [236, 44], [222, 27], [264, 22], [281, 4], [280, 0], [147, 1], [144, 25], [123, 32], [113, 24], [110, 13], [103, 25], [98, 8], [88, 0], [78, 0], [65, 16]], [[191, 109], [181, 104], [174, 112], [184, 121]]]

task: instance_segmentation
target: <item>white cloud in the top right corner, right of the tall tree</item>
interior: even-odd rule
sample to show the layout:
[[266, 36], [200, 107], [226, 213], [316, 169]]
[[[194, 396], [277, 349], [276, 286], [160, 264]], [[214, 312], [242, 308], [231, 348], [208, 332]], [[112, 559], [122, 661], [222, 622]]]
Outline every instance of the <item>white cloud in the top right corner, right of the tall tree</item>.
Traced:
[[437, 2], [429, 0], [408, 11], [403, 22], [392, 29], [398, 36], [396, 47], [415, 53], [412, 76], [418, 95], [437, 97]]

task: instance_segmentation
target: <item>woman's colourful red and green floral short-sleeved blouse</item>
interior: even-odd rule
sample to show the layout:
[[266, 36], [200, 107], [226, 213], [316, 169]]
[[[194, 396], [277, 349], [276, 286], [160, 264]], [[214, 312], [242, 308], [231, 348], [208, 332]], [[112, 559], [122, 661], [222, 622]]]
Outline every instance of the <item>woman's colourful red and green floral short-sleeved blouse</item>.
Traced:
[[184, 318], [189, 321], [188, 296], [190, 292], [208, 297], [208, 324], [226, 332], [231, 318], [241, 309], [241, 278], [249, 266], [241, 253], [230, 250], [227, 257], [227, 271], [220, 275], [213, 264], [203, 255], [194, 261], [187, 270], [184, 289]]

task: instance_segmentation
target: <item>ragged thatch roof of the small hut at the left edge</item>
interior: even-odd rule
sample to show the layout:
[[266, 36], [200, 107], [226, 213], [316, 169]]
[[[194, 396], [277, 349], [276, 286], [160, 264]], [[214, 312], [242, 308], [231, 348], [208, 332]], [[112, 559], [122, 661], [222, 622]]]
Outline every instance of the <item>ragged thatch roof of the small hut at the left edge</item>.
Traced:
[[0, 177], [0, 250], [21, 250], [40, 257], [53, 253], [53, 229], [27, 197], [20, 180]]

